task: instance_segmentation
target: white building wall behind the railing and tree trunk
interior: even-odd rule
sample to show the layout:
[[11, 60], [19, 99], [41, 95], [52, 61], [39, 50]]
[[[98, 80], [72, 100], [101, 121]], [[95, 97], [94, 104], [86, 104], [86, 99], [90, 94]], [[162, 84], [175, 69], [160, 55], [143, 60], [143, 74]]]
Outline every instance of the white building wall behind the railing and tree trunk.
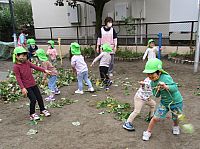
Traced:
[[[104, 7], [102, 21], [104, 21], [106, 16], [111, 16], [115, 20], [115, 5], [119, 3], [127, 3], [128, 16], [132, 16], [133, 18], [144, 18], [143, 22], [169, 22], [191, 20], [190, 17], [187, 16], [187, 14], [196, 13], [197, 9], [193, 10], [194, 7], [196, 8], [195, 2], [197, 3], [197, 0], [111, 0], [110, 2], [106, 3]], [[31, 0], [31, 3], [35, 28], [75, 26], [69, 22], [66, 3], [63, 7], [55, 6], [55, 0]], [[95, 25], [94, 8], [83, 3], [80, 4], [80, 25]], [[187, 9], [185, 9], [185, 7], [187, 7]], [[175, 17], [177, 11], [179, 14], [181, 14], [180, 16], [182, 18], [178, 16]], [[76, 38], [76, 30], [76, 28], [59, 28], [52, 29], [52, 33], [54, 38]], [[116, 28], [116, 30], [118, 31], [119, 28]], [[142, 33], [145, 34], [144, 27], [142, 30]], [[155, 36], [159, 32], [162, 32], [164, 36], [168, 36], [169, 31], [169, 25], [166, 24], [148, 26], [148, 34], [155, 34]], [[49, 29], [36, 29], [35, 32], [36, 38], [50, 38]], [[121, 29], [120, 34], [126, 34], [125, 30]], [[81, 38], [94, 37], [95, 28], [79, 28], [79, 35]]]

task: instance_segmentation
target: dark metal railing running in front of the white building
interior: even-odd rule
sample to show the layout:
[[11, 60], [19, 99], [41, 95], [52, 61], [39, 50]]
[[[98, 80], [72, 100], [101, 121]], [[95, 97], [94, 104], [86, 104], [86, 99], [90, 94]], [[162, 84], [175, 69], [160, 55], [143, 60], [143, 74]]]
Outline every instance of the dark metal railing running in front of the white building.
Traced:
[[[158, 42], [158, 33], [162, 33], [163, 45], [194, 46], [197, 32], [197, 21], [181, 22], [156, 22], [138, 24], [114, 24], [118, 34], [118, 45], [146, 45], [148, 39], [153, 38]], [[131, 29], [131, 31], [130, 31]], [[1, 31], [1, 29], [0, 29]], [[57, 40], [60, 37], [62, 44], [70, 44], [77, 41], [80, 44], [96, 44], [95, 25], [65, 26], [65, 27], [41, 27], [30, 29], [31, 36], [40, 44], [49, 39]], [[29, 36], [29, 37], [31, 37]], [[0, 35], [0, 40], [2, 39]]]

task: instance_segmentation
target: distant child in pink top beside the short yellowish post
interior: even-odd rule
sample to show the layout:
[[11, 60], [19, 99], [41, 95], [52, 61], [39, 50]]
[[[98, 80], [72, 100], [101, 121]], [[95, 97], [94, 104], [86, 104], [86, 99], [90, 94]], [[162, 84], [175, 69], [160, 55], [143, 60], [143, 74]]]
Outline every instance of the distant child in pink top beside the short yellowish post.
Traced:
[[50, 62], [54, 66], [56, 66], [56, 57], [57, 57], [58, 53], [57, 53], [57, 50], [55, 49], [55, 45], [54, 45], [53, 40], [48, 41], [47, 55], [49, 56]]

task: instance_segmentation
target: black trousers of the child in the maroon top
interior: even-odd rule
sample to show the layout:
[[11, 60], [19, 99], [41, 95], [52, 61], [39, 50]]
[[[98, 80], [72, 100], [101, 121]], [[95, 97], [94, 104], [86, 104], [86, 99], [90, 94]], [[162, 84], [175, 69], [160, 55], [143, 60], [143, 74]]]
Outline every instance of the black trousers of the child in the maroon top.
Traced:
[[45, 110], [42, 95], [37, 85], [27, 88], [28, 98], [30, 99], [30, 115], [35, 113], [36, 101], [40, 107], [40, 111]]

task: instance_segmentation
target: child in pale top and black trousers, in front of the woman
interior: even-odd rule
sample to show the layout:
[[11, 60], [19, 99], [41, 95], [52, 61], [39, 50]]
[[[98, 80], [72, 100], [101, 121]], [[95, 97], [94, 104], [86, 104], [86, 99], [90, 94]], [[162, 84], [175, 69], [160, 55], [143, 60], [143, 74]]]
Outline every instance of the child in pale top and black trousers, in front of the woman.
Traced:
[[101, 52], [101, 54], [93, 60], [91, 67], [98, 60], [100, 60], [99, 71], [100, 71], [101, 81], [104, 84], [104, 88], [106, 90], [109, 90], [109, 86], [112, 84], [112, 81], [110, 81], [110, 78], [108, 76], [108, 69], [109, 69], [109, 65], [111, 61], [110, 52], [112, 52], [112, 48], [110, 44], [105, 43], [102, 45], [102, 49], [103, 49], [103, 52]]

